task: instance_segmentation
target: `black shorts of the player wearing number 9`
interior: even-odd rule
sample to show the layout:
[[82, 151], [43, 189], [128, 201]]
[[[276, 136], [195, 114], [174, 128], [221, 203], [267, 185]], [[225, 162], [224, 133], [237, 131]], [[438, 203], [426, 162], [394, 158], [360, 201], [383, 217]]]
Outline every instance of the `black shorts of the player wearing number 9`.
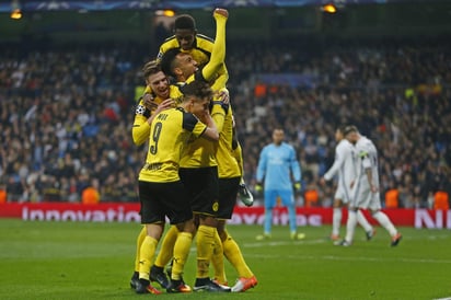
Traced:
[[164, 222], [171, 224], [185, 222], [193, 218], [189, 195], [182, 182], [151, 183], [139, 182], [139, 201], [141, 203], [141, 223]]

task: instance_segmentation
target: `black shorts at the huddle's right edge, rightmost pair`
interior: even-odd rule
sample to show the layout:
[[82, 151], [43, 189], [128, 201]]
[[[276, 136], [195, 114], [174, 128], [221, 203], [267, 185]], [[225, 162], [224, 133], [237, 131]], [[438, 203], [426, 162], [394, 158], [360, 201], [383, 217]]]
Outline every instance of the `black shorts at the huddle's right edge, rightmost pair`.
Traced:
[[219, 211], [218, 219], [232, 219], [233, 208], [236, 204], [240, 177], [219, 178]]

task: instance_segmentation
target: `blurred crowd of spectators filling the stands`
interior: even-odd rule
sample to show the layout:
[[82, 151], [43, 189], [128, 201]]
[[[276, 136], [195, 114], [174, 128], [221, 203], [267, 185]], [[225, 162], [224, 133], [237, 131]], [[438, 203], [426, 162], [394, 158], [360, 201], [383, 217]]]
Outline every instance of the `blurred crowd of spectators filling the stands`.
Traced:
[[[335, 128], [355, 124], [379, 148], [382, 197], [396, 189], [401, 207], [431, 207], [437, 191], [450, 195], [451, 58], [439, 42], [228, 42], [247, 184], [280, 125], [303, 192], [331, 206], [334, 187], [319, 182], [334, 161]], [[80, 201], [89, 186], [102, 201], [138, 200], [146, 148], [132, 145], [131, 124], [141, 67], [157, 54], [146, 48], [2, 47], [0, 189], [9, 201]]]

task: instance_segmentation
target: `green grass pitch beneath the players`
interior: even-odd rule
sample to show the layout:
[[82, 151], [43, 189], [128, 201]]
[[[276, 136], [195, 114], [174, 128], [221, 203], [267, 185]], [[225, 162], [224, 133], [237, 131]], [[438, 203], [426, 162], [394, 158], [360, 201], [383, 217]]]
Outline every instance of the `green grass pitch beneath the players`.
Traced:
[[[37, 222], [0, 219], [0, 299], [437, 299], [451, 297], [451, 232], [401, 228], [390, 247], [378, 228], [350, 247], [326, 239], [329, 227], [300, 228], [303, 241], [275, 227], [257, 242], [256, 226], [231, 226], [258, 286], [244, 293], [136, 295], [129, 288], [137, 223]], [[344, 229], [343, 229], [344, 230]], [[194, 281], [195, 252], [185, 279]], [[235, 273], [227, 265], [230, 284]]]

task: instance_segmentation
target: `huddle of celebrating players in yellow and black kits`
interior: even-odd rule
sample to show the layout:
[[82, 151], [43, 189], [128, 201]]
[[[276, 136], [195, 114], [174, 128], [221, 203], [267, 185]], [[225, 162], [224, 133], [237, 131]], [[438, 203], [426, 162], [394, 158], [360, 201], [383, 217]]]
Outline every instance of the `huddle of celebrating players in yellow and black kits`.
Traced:
[[[226, 230], [239, 192], [250, 193], [243, 182], [241, 148], [226, 89], [228, 11], [216, 9], [213, 18], [215, 42], [197, 34], [190, 15], [176, 18], [174, 36], [161, 45], [157, 59], [143, 67], [147, 89], [132, 128], [136, 145], [149, 143], [138, 178], [143, 228], [130, 281], [138, 293], [161, 293], [151, 281], [167, 292], [238, 292], [257, 285]], [[252, 197], [246, 204], [252, 205]], [[166, 218], [171, 227], [154, 257]], [[190, 288], [182, 274], [194, 236], [197, 268]], [[224, 256], [238, 273], [232, 287], [224, 274]], [[170, 263], [167, 278], [164, 267]]]

